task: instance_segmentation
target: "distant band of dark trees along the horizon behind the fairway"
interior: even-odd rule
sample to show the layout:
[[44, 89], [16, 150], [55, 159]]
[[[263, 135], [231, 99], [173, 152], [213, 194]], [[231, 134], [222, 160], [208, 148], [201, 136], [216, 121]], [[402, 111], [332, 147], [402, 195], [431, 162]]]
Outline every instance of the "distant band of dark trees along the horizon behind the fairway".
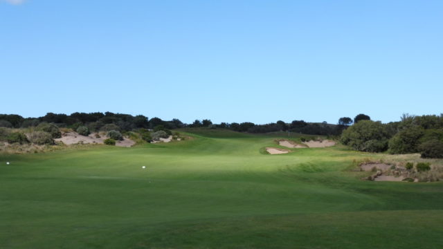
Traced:
[[[363, 115], [363, 114], [361, 114]], [[364, 116], [364, 115], [363, 115]], [[356, 117], [357, 118], [357, 117]], [[363, 117], [364, 118], [364, 117]], [[120, 131], [132, 131], [134, 129], [154, 129], [164, 127], [165, 129], [179, 129], [184, 127], [208, 127], [211, 129], [230, 129], [248, 133], [268, 133], [275, 131], [291, 131], [297, 133], [313, 135], [340, 135], [353, 121], [351, 118], [340, 118], [338, 124], [328, 124], [327, 122], [305, 122], [304, 120], [293, 120], [292, 122], [271, 122], [269, 124], [254, 124], [253, 122], [221, 122], [213, 124], [211, 120], [195, 120], [190, 124], [181, 122], [174, 118], [172, 120], [161, 120], [160, 118], [147, 118], [143, 115], [132, 116], [123, 113], [94, 112], [79, 113], [71, 115], [46, 113], [39, 118], [23, 118], [17, 114], [0, 114], [0, 127], [27, 128], [37, 127], [41, 123], [55, 124], [57, 127], [67, 127], [77, 130], [78, 127], [87, 127], [89, 131], [99, 131], [102, 127], [114, 124]]]

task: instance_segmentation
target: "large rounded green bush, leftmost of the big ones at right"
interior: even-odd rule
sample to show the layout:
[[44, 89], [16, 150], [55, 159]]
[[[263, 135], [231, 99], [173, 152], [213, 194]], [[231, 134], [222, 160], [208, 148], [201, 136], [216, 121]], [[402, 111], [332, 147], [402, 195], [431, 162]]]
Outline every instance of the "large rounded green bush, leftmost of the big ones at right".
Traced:
[[341, 142], [358, 151], [381, 152], [388, 149], [388, 132], [381, 122], [361, 120], [345, 129]]

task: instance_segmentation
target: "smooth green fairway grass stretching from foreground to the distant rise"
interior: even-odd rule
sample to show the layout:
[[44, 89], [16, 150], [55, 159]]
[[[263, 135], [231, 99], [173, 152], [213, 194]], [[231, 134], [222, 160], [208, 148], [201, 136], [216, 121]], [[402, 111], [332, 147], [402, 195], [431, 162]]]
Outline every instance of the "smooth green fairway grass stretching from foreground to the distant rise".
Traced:
[[387, 155], [269, 155], [287, 134], [181, 132], [192, 138], [0, 155], [0, 248], [443, 248], [443, 183], [351, 170]]

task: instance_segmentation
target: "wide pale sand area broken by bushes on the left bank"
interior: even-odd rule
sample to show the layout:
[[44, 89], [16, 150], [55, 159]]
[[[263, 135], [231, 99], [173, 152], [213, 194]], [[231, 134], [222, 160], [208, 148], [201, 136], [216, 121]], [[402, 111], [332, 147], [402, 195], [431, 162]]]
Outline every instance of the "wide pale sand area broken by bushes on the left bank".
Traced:
[[[75, 145], [78, 143], [83, 144], [103, 144], [103, 141], [107, 139], [106, 134], [100, 134], [100, 138], [96, 138], [96, 133], [90, 134], [89, 136], [82, 136], [77, 132], [67, 132], [63, 133], [62, 138], [55, 138], [57, 142], [63, 142], [65, 145]], [[116, 141], [116, 146], [120, 147], [132, 147], [136, 142], [130, 140], [129, 138], [123, 138], [123, 141]]]

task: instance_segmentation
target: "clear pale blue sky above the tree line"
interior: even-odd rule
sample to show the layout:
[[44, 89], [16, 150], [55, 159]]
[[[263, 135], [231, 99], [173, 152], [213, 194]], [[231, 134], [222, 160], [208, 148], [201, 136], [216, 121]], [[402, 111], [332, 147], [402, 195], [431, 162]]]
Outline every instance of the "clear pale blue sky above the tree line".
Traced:
[[0, 0], [0, 113], [443, 112], [443, 1]]

